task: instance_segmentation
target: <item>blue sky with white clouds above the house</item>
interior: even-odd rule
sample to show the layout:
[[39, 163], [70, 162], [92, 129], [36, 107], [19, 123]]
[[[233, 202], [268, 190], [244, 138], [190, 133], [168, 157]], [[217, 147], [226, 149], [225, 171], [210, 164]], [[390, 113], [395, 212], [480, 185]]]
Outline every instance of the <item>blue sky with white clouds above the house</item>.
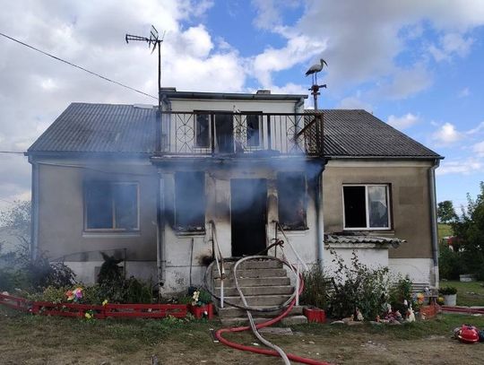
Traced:
[[[307, 93], [323, 57], [320, 106], [367, 109], [444, 155], [438, 201], [478, 194], [484, 1], [21, 0], [0, 13], [0, 32], [156, 95], [156, 56], [124, 41], [151, 23], [166, 31], [164, 86]], [[72, 101], [153, 102], [0, 37], [1, 151], [25, 151]], [[0, 208], [29, 195], [26, 159], [0, 154]]]

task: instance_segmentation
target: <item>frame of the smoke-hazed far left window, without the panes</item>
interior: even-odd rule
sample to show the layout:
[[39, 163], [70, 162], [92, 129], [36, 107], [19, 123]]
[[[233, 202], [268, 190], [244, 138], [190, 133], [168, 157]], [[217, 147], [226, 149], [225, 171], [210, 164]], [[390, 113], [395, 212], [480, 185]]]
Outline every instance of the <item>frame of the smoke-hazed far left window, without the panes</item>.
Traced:
[[[111, 196], [111, 213], [112, 213], [112, 225], [111, 228], [89, 228], [88, 227], [88, 204], [87, 204], [87, 194], [89, 184], [107, 184], [109, 187], [116, 185], [134, 185], [136, 187], [136, 227], [134, 229], [116, 228], [116, 204], [114, 195]], [[140, 183], [138, 181], [109, 181], [109, 180], [91, 180], [84, 181], [83, 187], [83, 207], [84, 207], [84, 224], [83, 230], [85, 232], [108, 232], [108, 233], [130, 233], [140, 231]]]

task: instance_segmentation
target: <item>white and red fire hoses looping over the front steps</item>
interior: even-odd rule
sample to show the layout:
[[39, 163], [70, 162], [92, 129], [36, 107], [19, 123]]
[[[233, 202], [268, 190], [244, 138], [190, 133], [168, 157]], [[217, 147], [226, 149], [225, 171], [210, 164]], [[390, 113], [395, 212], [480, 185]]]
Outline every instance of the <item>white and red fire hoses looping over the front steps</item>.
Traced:
[[[285, 364], [290, 364], [290, 361], [297, 361], [297, 362], [300, 362], [300, 363], [310, 364], [310, 365], [329, 365], [328, 362], [316, 361], [316, 360], [304, 358], [304, 357], [301, 357], [301, 356], [298, 356], [298, 355], [295, 355], [295, 354], [292, 354], [292, 353], [286, 354], [285, 352], [282, 351], [282, 349], [279, 346], [277, 346], [273, 343], [270, 343], [268, 340], [264, 339], [264, 337], [258, 332], [258, 329], [264, 328], [264, 327], [267, 327], [267, 326], [272, 326], [273, 324], [279, 322], [283, 317], [288, 316], [290, 314], [290, 311], [294, 308], [294, 305], [296, 304], [296, 294], [297, 293], [296, 293], [296, 291], [294, 291], [293, 294], [290, 296], [290, 299], [286, 300], [286, 302], [284, 302], [283, 304], [281, 304], [278, 307], [274, 307], [274, 308], [270, 308], [270, 309], [258, 309], [258, 308], [255, 308], [255, 307], [248, 306], [247, 302], [246, 302], [246, 298], [244, 296], [244, 293], [241, 291], [241, 289], [238, 285], [237, 268], [238, 268], [238, 265], [240, 265], [243, 262], [245, 262], [246, 260], [250, 260], [250, 259], [273, 259], [273, 260], [277, 260], [277, 261], [281, 262], [283, 265], [287, 265], [290, 268], [290, 271], [293, 274], [296, 274], [294, 267], [292, 265], [290, 265], [290, 263], [288, 263], [285, 260], [282, 260], [279, 257], [246, 256], [246, 257], [243, 257], [240, 260], [238, 260], [238, 262], [234, 265], [233, 274], [234, 274], [235, 284], [236, 284], [238, 293], [239, 293], [240, 298], [241, 298], [244, 305], [240, 306], [240, 305], [235, 305], [235, 303], [230, 303], [229, 301], [226, 301], [226, 302], [229, 305], [237, 307], [238, 309], [245, 309], [250, 326], [220, 328], [218, 331], [216, 331], [215, 337], [220, 341], [220, 343], [223, 343], [223, 344], [225, 344], [229, 347], [232, 347], [234, 349], [247, 351], [247, 352], [255, 352], [255, 353], [260, 353], [260, 354], [269, 355], [269, 356], [281, 357], [281, 359], [284, 361]], [[207, 269], [207, 272], [211, 268], [212, 268], [212, 265], [209, 266], [209, 268]], [[298, 294], [300, 294], [303, 291], [303, 288], [304, 288], [304, 280], [302, 278], [302, 275], [299, 274], [298, 277], [296, 278], [296, 280], [299, 281]], [[206, 284], [206, 275], [205, 275], [205, 284]], [[208, 288], [208, 285], [206, 285], [206, 286]], [[210, 292], [211, 292], [213, 297], [220, 299], [219, 297], [214, 295], [212, 293], [212, 291], [210, 291]], [[264, 311], [279, 310], [279, 309], [282, 309], [282, 308], [286, 308], [286, 309], [284, 309], [281, 312], [281, 314], [279, 314], [277, 317], [274, 317], [274, 318], [269, 319], [269, 320], [267, 320], [263, 323], [255, 325], [251, 311], [264, 312]], [[261, 348], [254, 347], [254, 346], [247, 346], [247, 345], [244, 345], [244, 344], [241, 344], [241, 343], [231, 342], [231, 341], [229, 341], [228, 339], [226, 339], [222, 336], [223, 334], [226, 334], [226, 333], [243, 332], [243, 331], [246, 331], [248, 329], [252, 329], [252, 331], [253, 331], [254, 335], [257, 337], [257, 339], [259, 339], [259, 341], [264, 343], [266, 346], [271, 347], [272, 350], [261, 349]]]

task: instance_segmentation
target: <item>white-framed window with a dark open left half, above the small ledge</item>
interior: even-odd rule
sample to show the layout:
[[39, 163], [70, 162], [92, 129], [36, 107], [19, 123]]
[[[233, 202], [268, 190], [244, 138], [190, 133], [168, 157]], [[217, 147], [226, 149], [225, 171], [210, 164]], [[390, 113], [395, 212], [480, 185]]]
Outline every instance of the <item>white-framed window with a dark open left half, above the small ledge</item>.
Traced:
[[390, 228], [387, 185], [344, 186], [343, 201], [345, 229]]

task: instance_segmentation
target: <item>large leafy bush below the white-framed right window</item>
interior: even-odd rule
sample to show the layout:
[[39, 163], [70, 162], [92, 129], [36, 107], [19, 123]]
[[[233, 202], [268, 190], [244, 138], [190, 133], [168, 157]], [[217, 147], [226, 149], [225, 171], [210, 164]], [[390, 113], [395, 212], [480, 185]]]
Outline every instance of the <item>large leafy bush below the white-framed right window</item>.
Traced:
[[362, 264], [355, 252], [351, 266], [344, 264], [341, 256], [331, 251], [337, 270], [334, 277], [334, 293], [330, 298], [329, 311], [333, 317], [350, 317], [359, 309], [363, 317], [374, 319], [381, 314], [385, 293], [389, 287], [387, 267], [373, 268]]

